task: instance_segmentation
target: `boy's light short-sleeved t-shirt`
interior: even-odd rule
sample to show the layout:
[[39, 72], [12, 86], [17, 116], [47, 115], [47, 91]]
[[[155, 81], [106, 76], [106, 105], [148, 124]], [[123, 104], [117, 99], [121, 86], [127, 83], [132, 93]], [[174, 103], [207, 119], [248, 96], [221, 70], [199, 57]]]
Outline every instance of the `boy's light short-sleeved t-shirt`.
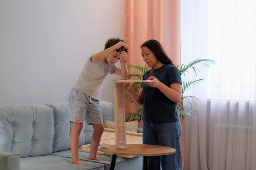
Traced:
[[99, 63], [93, 63], [90, 59], [95, 54], [97, 54], [97, 52], [92, 53], [85, 62], [83, 71], [74, 87], [88, 96], [100, 100], [104, 79], [108, 73], [113, 74], [113, 71], [118, 66], [116, 64], [108, 65], [104, 60]]

